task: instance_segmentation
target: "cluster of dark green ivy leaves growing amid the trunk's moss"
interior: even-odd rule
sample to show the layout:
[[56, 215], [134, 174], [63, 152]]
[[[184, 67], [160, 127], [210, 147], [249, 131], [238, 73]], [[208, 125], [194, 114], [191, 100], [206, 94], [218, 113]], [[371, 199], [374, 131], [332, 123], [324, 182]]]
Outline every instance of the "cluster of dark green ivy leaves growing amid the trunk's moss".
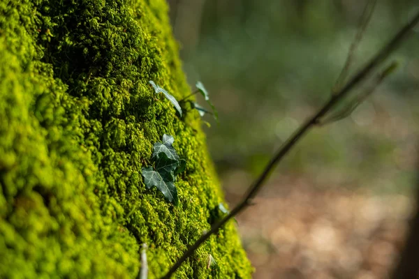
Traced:
[[162, 142], [154, 144], [152, 161], [154, 167], [142, 167], [145, 187], [147, 189], [156, 186], [163, 193], [168, 202], [177, 205], [177, 189], [175, 181], [177, 174], [184, 172], [186, 161], [179, 158], [172, 144], [175, 139], [171, 135], [163, 135]]

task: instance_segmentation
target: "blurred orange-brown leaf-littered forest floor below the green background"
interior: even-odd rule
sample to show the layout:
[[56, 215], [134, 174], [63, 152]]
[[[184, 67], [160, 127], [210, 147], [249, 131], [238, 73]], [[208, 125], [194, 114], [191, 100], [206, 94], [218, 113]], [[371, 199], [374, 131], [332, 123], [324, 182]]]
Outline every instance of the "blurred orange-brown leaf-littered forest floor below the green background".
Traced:
[[237, 222], [257, 279], [389, 278], [414, 209], [405, 195], [319, 190], [284, 176], [254, 202]]

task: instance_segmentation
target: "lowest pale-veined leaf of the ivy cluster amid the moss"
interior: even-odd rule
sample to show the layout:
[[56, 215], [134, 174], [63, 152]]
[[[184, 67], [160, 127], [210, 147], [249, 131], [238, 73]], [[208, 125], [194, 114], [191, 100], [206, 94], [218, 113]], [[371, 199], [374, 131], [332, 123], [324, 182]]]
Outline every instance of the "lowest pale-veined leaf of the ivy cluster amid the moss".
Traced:
[[154, 171], [153, 167], [142, 167], [142, 176], [144, 177], [145, 187], [147, 189], [156, 186], [163, 193], [168, 202], [178, 203], [177, 189], [173, 183], [173, 176], [163, 172], [163, 174]]

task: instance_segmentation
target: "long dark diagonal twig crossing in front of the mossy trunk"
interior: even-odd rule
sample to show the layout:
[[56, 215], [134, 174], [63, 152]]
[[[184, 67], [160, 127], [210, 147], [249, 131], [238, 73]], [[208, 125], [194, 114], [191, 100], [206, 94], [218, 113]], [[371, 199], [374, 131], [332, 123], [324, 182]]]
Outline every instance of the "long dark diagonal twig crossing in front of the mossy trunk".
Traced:
[[260, 190], [260, 187], [263, 185], [263, 182], [265, 182], [265, 179], [270, 174], [272, 169], [279, 163], [279, 161], [284, 158], [284, 156], [288, 153], [288, 151], [291, 150], [291, 148], [302, 138], [303, 135], [305, 135], [310, 128], [316, 125], [318, 121], [332, 108], [334, 107], [342, 98], [347, 96], [349, 91], [353, 89], [356, 85], [358, 85], [362, 80], [365, 79], [369, 75], [369, 73], [372, 72], [377, 66], [379, 66], [384, 59], [386, 59], [394, 50], [396, 47], [399, 46], [400, 43], [404, 39], [406, 39], [406, 36], [409, 34], [409, 31], [419, 22], [419, 13], [416, 13], [415, 17], [406, 24], [402, 29], [400, 29], [399, 32], [388, 42], [383, 49], [376, 54], [376, 56], [373, 57], [367, 65], [359, 70], [359, 72], [349, 80], [342, 89], [339, 90], [335, 95], [330, 97], [330, 100], [328, 100], [323, 107], [318, 110], [314, 116], [312, 116], [310, 119], [308, 119], [300, 128], [298, 128], [291, 137], [284, 142], [284, 144], [279, 148], [277, 153], [274, 155], [272, 160], [270, 160], [270, 163], [267, 164], [265, 169], [263, 170], [262, 174], [251, 184], [251, 187], [247, 191], [247, 194], [244, 196], [242, 201], [235, 206], [235, 208], [230, 211], [230, 213], [224, 217], [223, 219], [219, 220], [218, 223], [215, 223], [210, 231], [208, 231], [206, 234], [203, 234], [195, 243], [193, 243], [192, 246], [189, 247], [186, 252], [184, 252], [184, 255], [180, 257], [177, 262], [172, 266], [172, 268], [166, 273], [165, 276], [163, 276], [162, 279], [168, 279], [172, 276], [173, 273], [179, 268], [179, 266], [182, 265], [182, 263], [195, 252], [195, 250], [204, 242], [206, 241], [212, 234], [215, 234], [218, 232], [220, 227], [222, 227], [224, 224], [228, 222], [231, 218], [237, 215], [237, 213], [240, 213], [243, 211], [249, 204], [251, 203], [251, 199], [255, 197], [256, 193]]

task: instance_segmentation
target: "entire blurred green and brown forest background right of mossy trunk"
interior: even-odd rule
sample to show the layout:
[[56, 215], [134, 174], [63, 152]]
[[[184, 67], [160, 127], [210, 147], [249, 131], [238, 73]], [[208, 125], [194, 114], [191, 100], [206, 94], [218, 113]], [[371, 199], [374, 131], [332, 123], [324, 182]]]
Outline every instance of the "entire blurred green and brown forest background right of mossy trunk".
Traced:
[[[367, 1], [168, 2], [191, 87], [203, 82], [219, 111], [205, 130], [231, 208], [329, 98]], [[417, 10], [378, 1], [351, 73]], [[390, 276], [415, 208], [418, 47], [416, 32], [392, 55], [397, 73], [350, 117], [312, 130], [237, 218], [254, 278]]]

